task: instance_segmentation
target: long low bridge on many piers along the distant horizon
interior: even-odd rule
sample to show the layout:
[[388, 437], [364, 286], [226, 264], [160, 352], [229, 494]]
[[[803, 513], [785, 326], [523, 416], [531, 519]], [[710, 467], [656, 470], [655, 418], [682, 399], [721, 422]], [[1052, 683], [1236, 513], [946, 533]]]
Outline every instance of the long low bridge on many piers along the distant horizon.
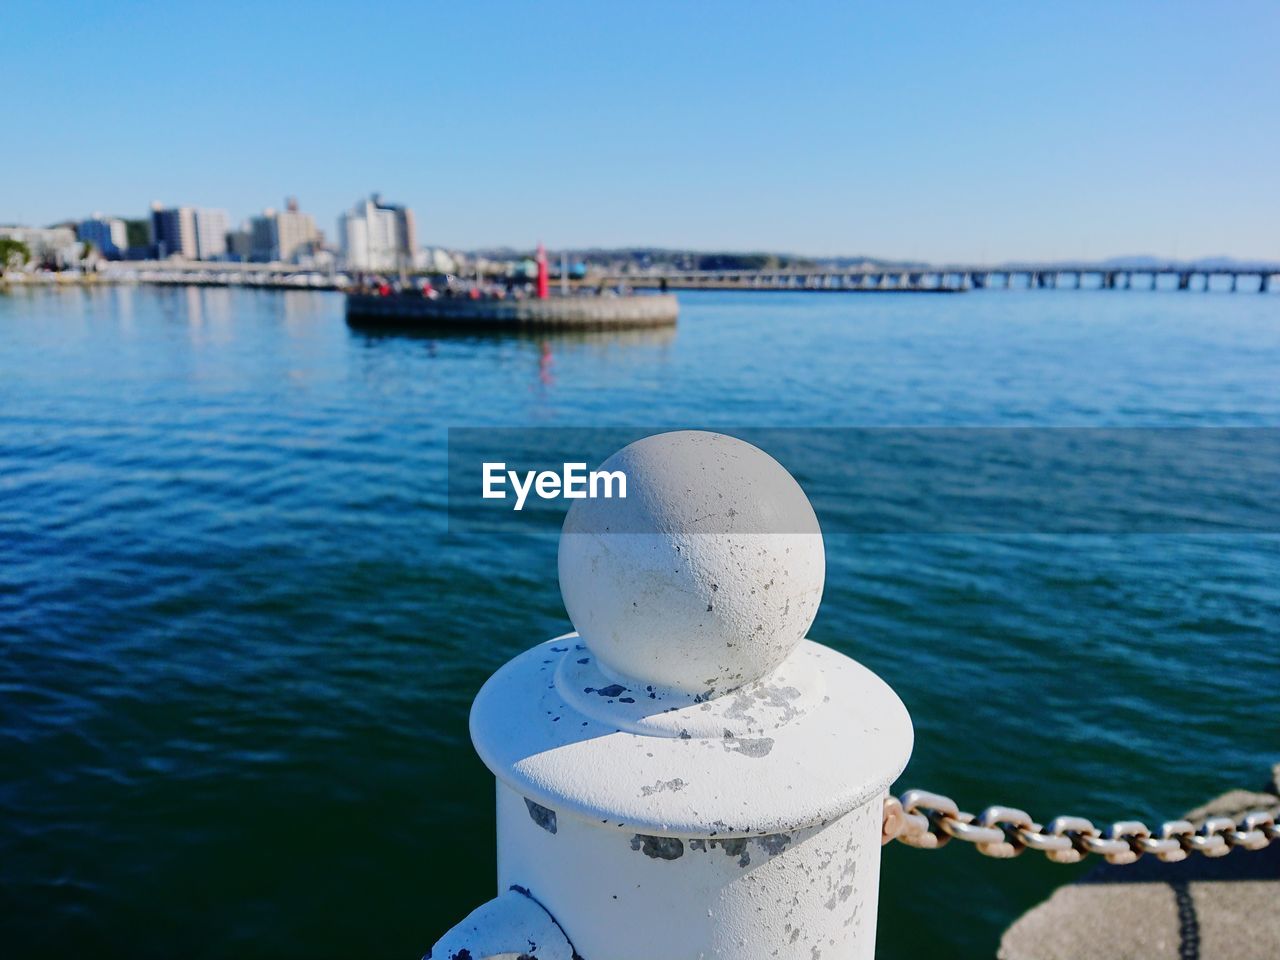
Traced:
[[928, 266], [911, 269], [855, 268], [847, 270], [681, 270], [611, 273], [608, 283], [635, 288], [664, 289], [755, 289], [755, 291], [902, 291], [955, 293], [966, 289], [1176, 289], [1253, 291], [1267, 293], [1280, 266], [1189, 268], [1098, 266], [1096, 264], [1042, 266]]

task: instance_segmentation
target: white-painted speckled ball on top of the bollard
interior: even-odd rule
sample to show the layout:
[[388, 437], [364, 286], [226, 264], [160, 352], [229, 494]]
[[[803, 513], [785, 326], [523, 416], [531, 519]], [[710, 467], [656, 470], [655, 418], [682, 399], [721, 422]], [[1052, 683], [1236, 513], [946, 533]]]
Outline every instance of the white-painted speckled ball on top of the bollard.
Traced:
[[809, 498], [759, 448], [724, 434], [646, 436], [600, 467], [622, 499], [575, 500], [561, 594], [600, 668], [713, 698], [771, 673], [804, 640], [826, 554]]

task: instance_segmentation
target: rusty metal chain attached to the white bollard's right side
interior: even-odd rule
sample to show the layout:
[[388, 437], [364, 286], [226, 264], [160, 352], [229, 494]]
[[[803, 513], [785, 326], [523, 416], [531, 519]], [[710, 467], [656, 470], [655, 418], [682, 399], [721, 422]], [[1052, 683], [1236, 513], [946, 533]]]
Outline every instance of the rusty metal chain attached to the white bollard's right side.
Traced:
[[901, 797], [884, 800], [881, 842], [899, 840], [937, 850], [963, 840], [986, 856], [1012, 858], [1038, 850], [1053, 863], [1078, 863], [1088, 854], [1114, 864], [1134, 863], [1143, 854], [1176, 863], [1188, 854], [1225, 856], [1236, 847], [1261, 850], [1280, 841], [1277, 813], [1280, 809], [1254, 810], [1239, 820], [1210, 817], [1198, 829], [1189, 820], [1166, 820], [1155, 832], [1140, 820], [1119, 820], [1100, 829], [1083, 817], [1056, 817], [1041, 826], [1014, 806], [988, 806], [974, 817], [948, 796], [908, 790]]

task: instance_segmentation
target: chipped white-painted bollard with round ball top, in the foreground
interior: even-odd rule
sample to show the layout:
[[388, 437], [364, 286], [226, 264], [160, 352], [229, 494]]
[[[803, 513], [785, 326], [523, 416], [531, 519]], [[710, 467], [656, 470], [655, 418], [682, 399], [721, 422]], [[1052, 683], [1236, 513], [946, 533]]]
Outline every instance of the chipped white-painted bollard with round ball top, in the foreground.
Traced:
[[805, 634], [826, 558], [768, 454], [639, 440], [580, 499], [561, 591], [576, 634], [502, 667], [471, 712], [498, 781], [502, 893], [433, 960], [874, 955], [883, 800], [911, 722]]

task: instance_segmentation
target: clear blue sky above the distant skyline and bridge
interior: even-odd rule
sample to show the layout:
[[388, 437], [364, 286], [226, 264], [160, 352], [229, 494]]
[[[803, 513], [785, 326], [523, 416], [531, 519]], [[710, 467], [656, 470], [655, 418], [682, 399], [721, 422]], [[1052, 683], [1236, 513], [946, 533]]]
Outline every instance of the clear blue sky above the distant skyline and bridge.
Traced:
[[1280, 4], [27, 4], [0, 223], [381, 191], [424, 243], [1280, 260]]

